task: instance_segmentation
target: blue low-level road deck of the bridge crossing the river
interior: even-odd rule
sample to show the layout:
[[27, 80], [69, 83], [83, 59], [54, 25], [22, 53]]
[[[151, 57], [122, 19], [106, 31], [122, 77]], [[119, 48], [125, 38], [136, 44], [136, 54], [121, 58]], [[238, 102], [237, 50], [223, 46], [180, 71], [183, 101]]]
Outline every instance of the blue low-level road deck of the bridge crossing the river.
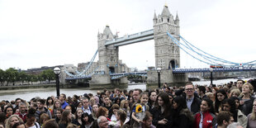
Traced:
[[[219, 68], [213, 69], [213, 72], [242, 72], [242, 71], [256, 71], [256, 67], [234, 67], [234, 68]], [[203, 73], [203, 72], [211, 72], [210, 69], [173, 69], [173, 74], [175, 73]], [[125, 77], [128, 75], [140, 75], [147, 76], [147, 72], [135, 72], [135, 73], [111, 73], [111, 79], [118, 79], [121, 77]], [[88, 76], [78, 76], [74, 78], [66, 78], [66, 80], [74, 80], [74, 79], [85, 79], [92, 78], [92, 75]]]

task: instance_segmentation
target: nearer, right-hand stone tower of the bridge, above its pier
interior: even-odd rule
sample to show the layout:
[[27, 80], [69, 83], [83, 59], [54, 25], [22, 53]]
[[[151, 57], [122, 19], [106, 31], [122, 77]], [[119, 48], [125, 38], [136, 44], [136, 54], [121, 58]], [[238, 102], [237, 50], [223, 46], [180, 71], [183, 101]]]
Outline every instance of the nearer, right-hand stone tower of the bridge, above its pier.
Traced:
[[166, 31], [176, 37], [179, 35], [179, 19], [169, 12], [165, 5], [163, 12], [158, 17], [154, 12], [154, 52], [155, 67], [161, 69], [175, 69], [180, 67], [180, 50], [178, 45], [168, 37]]

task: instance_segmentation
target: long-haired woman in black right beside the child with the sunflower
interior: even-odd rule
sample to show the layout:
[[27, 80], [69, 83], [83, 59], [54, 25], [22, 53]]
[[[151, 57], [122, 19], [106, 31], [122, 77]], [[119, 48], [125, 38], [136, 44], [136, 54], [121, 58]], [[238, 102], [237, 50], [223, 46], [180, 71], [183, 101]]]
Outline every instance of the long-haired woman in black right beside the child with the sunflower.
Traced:
[[153, 125], [158, 128], [168, 128], [171, 125], [171, 107], [168, 93], [160, 92], [156, 99], [155, 107], [150, 111], [153, 115]]

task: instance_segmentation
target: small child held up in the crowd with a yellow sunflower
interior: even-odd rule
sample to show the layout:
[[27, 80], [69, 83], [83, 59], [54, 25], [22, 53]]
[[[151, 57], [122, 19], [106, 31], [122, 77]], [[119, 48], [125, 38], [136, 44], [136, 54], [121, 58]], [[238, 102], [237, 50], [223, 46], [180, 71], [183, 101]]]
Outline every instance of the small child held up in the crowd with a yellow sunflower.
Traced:
[[147, 102], [149, 100], [149, 96], [147, 92], [142, 92], [140, 94], [140, 100], [135, 102], [135, 108], [132, 111], [132, 119], [135, 120], [133, 123], [133, 127], [140, 127], [141, 122], [143, 122], [143, 118], [145, 117], [145, 111], [149, 111], [149, 106]]

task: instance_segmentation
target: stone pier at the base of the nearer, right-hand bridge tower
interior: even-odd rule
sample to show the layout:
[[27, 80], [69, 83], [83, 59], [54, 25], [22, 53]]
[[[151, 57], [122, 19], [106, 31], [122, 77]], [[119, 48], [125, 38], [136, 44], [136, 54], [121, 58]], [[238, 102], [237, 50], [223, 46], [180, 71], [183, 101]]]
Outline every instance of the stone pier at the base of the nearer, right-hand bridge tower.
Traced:
[[[161, 71], [161, 85], [167, 83], [171, 86], [184, 86], [187, 83], [188, 78], [186, 73], [174, 73], [172, 70], [162, 70]], [[147, 84], [149, 86], [158, 85], [158, 73], [156, 70], [148, 71]]]

